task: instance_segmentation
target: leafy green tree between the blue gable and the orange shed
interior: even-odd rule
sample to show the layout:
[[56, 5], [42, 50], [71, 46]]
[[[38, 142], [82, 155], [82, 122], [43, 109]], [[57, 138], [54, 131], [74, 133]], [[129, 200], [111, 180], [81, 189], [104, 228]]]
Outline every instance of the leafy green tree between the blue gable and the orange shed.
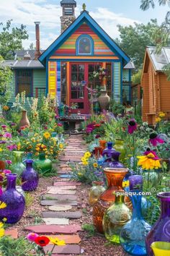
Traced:
[[120, 40], [116, 39], [116, 42], [134, 61], [135, 69], [138, 71], [143, 64], [146, 46], [156, 46], [155, 35], [160, 31], [157, 20], [151, 20], [146, 25], [136, 22], [135, 26], [118, 25], [118, 28]]

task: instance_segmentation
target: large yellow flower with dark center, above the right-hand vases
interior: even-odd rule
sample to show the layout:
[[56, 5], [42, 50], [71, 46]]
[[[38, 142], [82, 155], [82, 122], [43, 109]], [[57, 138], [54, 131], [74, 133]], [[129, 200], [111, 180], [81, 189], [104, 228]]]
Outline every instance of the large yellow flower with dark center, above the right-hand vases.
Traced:
[[143, 169], [152, 170], [153, 168], [161, 167], [160, 160], [154, 160], [155, 156], [153, 155], [153, 153], [137, 156], [137, 158], [139, 158], [138, 166], [142, 166]]

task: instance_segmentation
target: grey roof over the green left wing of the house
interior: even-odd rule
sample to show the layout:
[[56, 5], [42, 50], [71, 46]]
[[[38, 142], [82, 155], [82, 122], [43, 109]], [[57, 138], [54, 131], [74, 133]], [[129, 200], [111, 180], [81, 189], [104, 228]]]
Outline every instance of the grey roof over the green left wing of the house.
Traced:
[[12, 69], [44, 69], [38, 60], [1, 61], [0, 66], [11, 67]]

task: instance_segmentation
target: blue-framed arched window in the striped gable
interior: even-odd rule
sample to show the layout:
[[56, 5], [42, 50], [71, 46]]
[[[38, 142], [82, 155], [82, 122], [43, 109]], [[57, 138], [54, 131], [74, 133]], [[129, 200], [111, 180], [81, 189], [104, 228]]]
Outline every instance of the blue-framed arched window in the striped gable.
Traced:
[[77, 55], [94, 54], [94, 42], [90, 35], [80, 35], [76, 43]]

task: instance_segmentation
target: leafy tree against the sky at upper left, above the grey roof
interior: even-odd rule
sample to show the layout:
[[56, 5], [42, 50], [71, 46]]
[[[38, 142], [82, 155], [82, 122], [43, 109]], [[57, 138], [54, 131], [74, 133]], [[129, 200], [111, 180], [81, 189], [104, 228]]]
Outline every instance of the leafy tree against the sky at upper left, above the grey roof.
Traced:
[[14, 59], [15, 51], [22, 49], [22, 40], [28, 39], [26, 26], [11, 26], [12, 20], [7, 20], [6, 25], [0, 23], [0, 55], [4, 59]]

